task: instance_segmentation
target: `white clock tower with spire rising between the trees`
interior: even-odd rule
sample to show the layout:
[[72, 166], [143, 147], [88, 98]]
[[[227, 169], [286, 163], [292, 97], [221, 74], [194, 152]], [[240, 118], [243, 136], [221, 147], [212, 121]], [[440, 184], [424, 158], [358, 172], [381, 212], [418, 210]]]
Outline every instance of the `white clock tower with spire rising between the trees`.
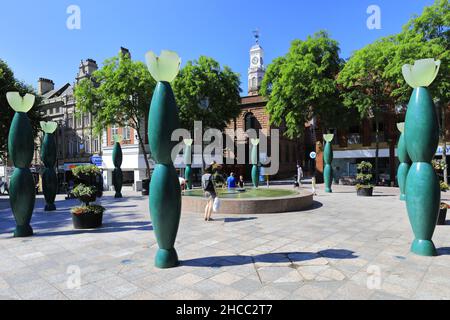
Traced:
[[259, 31], [253, 32], [256, 43], [250, 49], [250, 68], [248, 69], [248, 95], [257, 96], [261, 88], [266, 68], [264, 67], [264, 49], [259, 45]]

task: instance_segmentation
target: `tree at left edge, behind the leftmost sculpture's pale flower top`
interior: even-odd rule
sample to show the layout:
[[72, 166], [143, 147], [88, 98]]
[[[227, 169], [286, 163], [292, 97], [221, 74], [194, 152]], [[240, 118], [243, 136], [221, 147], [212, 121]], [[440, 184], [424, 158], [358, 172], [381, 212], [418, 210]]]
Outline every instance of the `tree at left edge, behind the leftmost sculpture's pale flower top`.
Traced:
[[[33, 88], [18, 81], [6, 62], [0, 59], [0, 160], [3, 163], [7, 163], [9, 127], [14, 117], [14, 110], [9, 106], [8, 101], [6, 100], [6, 93], [10, 91], [18, 91], [21, 95], [25, 95], [26, 93], [36, 95]], [[41, 120], [37, 108], [40, 101], [41, 98], [36, 96], [36, 102], [33, 108], [28, 112], [35, 137], [37, 136], [39, 122]]]

